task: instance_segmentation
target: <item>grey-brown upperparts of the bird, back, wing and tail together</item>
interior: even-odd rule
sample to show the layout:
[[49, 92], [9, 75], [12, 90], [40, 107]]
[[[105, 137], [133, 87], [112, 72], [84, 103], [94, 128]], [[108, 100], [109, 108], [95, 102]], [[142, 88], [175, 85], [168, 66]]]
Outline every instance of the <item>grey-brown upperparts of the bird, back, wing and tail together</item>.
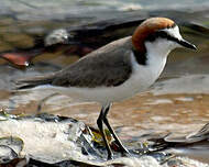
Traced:
[[40, 85], [62, 87], [113, 87], [123, 84], [131, 75], [131, 37], [108, 44], [65, 69], [45, 76], [20, 79], [18, 89]]

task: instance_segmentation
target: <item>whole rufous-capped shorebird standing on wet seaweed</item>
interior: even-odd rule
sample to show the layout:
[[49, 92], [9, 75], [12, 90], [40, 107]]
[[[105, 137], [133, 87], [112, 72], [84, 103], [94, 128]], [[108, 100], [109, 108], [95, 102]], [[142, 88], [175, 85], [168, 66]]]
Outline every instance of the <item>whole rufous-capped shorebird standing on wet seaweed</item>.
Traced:
[[97, 120], [108, 159], [113, 157], [103, 125], [108, 127], [122, 154], [122, 145], [108, 121], [111, 103], [146, 90], [163, 71], [169, 52], [176, 47], [196, 49], [185, 41], [179, 27], [166, 18], [151, 18], [142, 22], [132, 36], [117, 40], [86, 55], [63, 70], [20, 79], [18, 89], [54, 89], [80, 100], [99, 102], [102, 108]]

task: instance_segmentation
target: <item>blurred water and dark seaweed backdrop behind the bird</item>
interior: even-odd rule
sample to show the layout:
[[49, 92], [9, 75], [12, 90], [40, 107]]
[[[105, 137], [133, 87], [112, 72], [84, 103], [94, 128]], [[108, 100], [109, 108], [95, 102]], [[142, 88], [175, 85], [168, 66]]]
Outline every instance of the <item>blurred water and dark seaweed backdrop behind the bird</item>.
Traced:
[[150, 16], [175, 20], [198, 51], [172, 52], [161, 79], [147, 92], [114, 103], [110, 122], [121, 140], [198, 130], [209, 121], [208, 0], [0, 0], [0, 109], [66, 115], [96, 126], [97, 103], [56, 94], [37, 110], [41, 100], [54, 92], [14, 92], [13, 80], [59, 70], [131, 35]]

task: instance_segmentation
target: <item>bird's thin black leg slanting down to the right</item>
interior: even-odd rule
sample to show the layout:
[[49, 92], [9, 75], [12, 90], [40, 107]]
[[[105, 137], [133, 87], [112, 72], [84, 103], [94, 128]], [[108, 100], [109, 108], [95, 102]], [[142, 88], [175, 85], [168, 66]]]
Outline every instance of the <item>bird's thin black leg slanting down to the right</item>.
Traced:
[[108, 111], [110, 110], [110, 107], [111, 107], [111, 104], [109, 104], [108, 108], [106, 108], [106, 110], [105, 110], [103, 123], [107, 125], [108, 130], [113, 135], [113, 138], [114, 138], [116, 143], [119, 145], [122, 154], [123, 155], [129, 155], [130, 154], [129, 151], [123, 146], [122, 142], [119, 140], [119, 137], [117, 136], [114, 130], [111, 127], [111, 125], [110, 125], [110, 123], [108, 121], [107, 114], [108, 114]]

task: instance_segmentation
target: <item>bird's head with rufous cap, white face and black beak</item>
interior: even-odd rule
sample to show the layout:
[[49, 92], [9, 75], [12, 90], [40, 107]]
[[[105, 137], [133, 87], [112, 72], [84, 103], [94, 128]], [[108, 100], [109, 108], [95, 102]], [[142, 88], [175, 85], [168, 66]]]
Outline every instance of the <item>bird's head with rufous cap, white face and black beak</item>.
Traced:
[[196, 49], [194, 44], [182, 37], [178, 25], [166, 18], [151, 18], [142, 22], [132, 35], [132, 43], [140, 53], [167, 55], [176, 47]]

